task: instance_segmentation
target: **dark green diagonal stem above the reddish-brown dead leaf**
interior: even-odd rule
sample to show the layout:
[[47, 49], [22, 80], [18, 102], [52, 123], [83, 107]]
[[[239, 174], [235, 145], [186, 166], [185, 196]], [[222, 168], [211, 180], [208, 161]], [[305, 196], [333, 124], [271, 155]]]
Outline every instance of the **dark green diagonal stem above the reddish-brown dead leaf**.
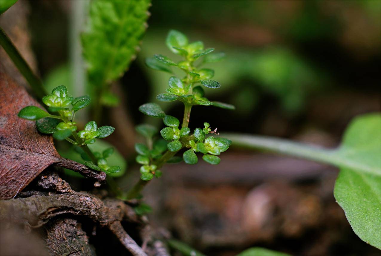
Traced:
[[38, 98], [42, 98], [47, 95], [44, 86], [40, 78], [38, 78], [30, 69], [29, 65], [22, 58], [21, 54], [17, 50], [17, 48], [12, 43], [11, 39], [8, 35], [5, 34], [4, 30], [0, 27], [0, 45], [3, 46], [4, 50], [8, 54], [8, 56], [13, 61], [14, 65], [18, 68], [20, 73], [24, 76], [24, 78], [28, 81], [30, 87], [32, 87], [34, 93], [38, 96]]

